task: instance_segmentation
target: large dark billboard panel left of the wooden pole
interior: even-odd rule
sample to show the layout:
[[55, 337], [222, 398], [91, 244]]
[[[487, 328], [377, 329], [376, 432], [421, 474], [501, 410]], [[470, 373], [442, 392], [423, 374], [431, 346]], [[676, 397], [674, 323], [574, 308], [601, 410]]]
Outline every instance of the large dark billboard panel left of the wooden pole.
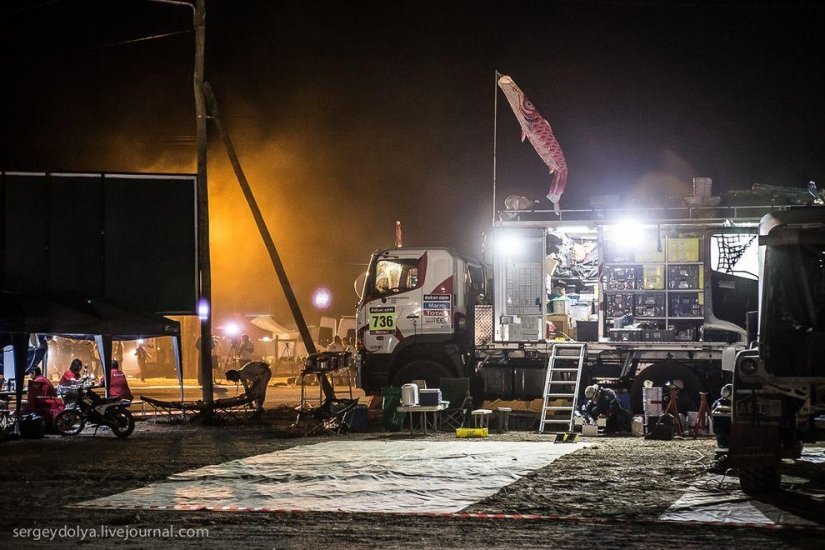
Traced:
[[196, 177], [0, 172], [0, 288], [196, 313]]

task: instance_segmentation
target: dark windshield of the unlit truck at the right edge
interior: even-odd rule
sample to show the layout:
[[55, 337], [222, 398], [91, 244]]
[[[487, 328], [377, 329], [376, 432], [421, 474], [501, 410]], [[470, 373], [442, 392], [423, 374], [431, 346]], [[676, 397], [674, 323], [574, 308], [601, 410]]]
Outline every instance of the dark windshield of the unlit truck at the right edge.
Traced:
[[825, 355], [825, 245], [767, 247], [766, 368], [782, 376], [822, 376]]

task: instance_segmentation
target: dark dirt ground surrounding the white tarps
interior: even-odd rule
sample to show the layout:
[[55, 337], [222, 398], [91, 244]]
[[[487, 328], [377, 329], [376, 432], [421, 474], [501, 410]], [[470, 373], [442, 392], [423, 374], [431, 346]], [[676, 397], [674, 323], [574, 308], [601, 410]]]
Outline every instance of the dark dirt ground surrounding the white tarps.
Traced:
[[[100, 510], [67, 505], [120, 493], [171, 474], [269, 453], [336, 436], [305, 437], [288, 406], [261, 420], [206, 425], [137, 423], [128, 440], [87, 428], [76, 437], [0, 443], [0, 548], [821, 548], [825, 538], [825, 468], [783, 465], [783, 489], [770, 503], [814, 520], [819, 527], [766, 528], [662, 522], [660, 515], [706, 476], [712, 438], [646, 441], [630, 436], [583, 438], [593, 445], [566, 455], [457, 515], [263, 513]], [[380, 420], [380, 419], [379, 419]], [[380, 441], [449, 433], [387, 432], [373, 422], [366, 432], [337, 436]], [[492, 440], [552, 441], [535, 432], [492, 434]], [[792, 477], [791, 477], [792, 476]], [[720, 488], [724, 490], [724, 485]], [[814, 495], [812, 497], [811, 495]], [[474, 517], [476, 514], [478, 517]], [[504, 514], [505, 517], [490, 517]], [[513, 515], [532, 514], [539, 518]], [[130, 530], [117, 537], [80, 541], [61, 536], [35, 540], [34, 531], [71, 528]], [[171, 538], [169, 528], [208, 529]], [[67, 531], [67, 529], [69, 529]], [[156, 529], [151, 536], [141, 530]], [[164, 534], [167, 536], [162, 536]], [[161, 536], [158, 536], [158, 532]], [[42, 531], [40, 531], [42, 533]], [[819, 542], [818, 542], [819, 541]], [[171, 545], [171, 546], [170, 546]]]

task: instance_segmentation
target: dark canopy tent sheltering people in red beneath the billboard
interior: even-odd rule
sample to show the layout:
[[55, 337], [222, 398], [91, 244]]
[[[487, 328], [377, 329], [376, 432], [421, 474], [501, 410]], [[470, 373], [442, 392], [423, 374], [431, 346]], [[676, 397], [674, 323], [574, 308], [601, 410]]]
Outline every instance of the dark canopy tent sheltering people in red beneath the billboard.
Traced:
[[112, 341], [171, 336], [181, 399], [180, 323], [161, 315], [136, 311], [111, 300], [76, 296], [46, 297], [0, 292], [0, 344], [11, 347], [14, 361], [15, 399], [20, 414], [26, 355], [31, 334], [51, 334], [94, 340], [105, 374], [106, 394], [112, 370]]

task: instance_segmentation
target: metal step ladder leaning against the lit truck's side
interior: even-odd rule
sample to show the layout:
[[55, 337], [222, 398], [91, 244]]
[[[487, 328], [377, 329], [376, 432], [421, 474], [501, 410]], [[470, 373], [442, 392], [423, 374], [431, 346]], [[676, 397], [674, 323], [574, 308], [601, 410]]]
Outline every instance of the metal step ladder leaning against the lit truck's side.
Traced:
[[[539, 433], [572, 432], [587, 344], [558, 342], [547, 358]], [[561, 404], [554, 402], [561, 401]], [[555, 428], [555, 429], [554, 429]]]

